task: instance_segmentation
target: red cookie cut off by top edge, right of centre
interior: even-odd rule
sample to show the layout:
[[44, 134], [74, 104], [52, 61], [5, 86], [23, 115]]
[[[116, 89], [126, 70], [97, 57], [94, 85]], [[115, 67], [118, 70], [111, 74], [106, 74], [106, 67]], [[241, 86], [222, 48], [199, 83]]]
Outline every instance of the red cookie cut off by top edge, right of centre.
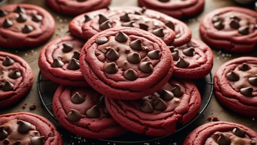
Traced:
[[138, 0], [140, 6], [159, 11], [176, 19], [190, 18], [203, 11], [204, 0]]

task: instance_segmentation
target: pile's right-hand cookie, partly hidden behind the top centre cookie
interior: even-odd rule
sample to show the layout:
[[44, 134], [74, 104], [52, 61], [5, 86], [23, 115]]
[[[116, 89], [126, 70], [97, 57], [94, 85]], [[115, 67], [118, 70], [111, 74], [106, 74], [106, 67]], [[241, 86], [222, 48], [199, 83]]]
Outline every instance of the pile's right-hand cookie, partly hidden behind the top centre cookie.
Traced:
[[185, 79], [203, 78], [211, 72], [213, 53], [202, 41], [192, 38], [180, 47], [169, 47], [174, 60], [173, 76]]

